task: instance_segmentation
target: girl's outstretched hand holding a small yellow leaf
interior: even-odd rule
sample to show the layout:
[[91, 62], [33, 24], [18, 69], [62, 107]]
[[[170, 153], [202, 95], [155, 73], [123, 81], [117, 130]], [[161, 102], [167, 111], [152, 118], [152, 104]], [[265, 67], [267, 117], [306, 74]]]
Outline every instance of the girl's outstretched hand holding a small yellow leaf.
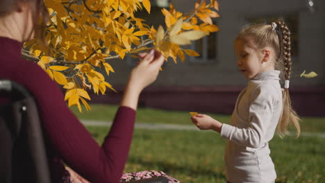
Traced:
[[221, 132], [222, 123], [206, 114], [197, 114], [197, 116], [192, 116], [191, 120], [200, 130], [215, 130], [216, 132]]

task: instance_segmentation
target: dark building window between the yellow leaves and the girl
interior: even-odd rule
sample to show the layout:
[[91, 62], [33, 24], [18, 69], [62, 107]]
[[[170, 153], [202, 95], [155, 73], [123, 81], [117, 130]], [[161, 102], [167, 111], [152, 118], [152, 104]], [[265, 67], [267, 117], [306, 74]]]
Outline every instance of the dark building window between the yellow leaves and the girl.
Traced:
[[[215, 22], [214, 22], [215, 24]], [[190, 49], [197, 51], [199, 57], [190, 57], [191, 62], [215, 62], [217, 60], [217, 33], [210, 33], [210, 35], [203, 37], [201, 40], [193, 42]]]

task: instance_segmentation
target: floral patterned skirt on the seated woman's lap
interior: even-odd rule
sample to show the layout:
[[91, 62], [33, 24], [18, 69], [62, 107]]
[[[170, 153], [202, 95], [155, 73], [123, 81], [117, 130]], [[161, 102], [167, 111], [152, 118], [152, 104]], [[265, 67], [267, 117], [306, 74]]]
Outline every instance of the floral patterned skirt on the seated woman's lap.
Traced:
[[119, 182], [131, 182], [135, 180], [144, 180], [160, 176], [167, 177], [168, 183], [180, 183], [178, 180], [174, 179], [173, 177], [169, 177], [162, 171], [141, 171], [135, 173], [125, 173]]

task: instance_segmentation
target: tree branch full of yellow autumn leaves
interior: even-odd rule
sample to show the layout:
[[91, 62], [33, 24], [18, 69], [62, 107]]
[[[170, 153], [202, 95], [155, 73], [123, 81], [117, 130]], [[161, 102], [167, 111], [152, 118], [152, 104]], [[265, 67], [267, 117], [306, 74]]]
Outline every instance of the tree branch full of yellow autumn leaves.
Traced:
[[[165, 58], [185, 60], [197, 52], [182, 49], [181, 45], [191, 44], [205, 35], [218, 30], [211, 18], [219, 17], [216, 0], [200, 0], [187, 16], [176, 11], [170, 4], [163, 8], [165, 27], [144, 24], [135, 17], [138, 10], [150, 13], [149, 0], [44, 0], [49, 10], [50, 22], [45, 30], [47, 46], [32, 40], [24, 44], [22, 55], [27, 60], [38, 62], [49, 76], [67, 89], [65, 101], [77, 105], [82, 111], [90, 106], [88, 91], [105, 94], [106, 89], [115, 89], [106, 82], [100, 68], [106, 75], [115, 72], [109, 61], [127, 54], [137, 54], [154, 48]], [[144, 36], [148, 38], [144, 38]], [[166, 59], [167, 60], [167, 59]]]

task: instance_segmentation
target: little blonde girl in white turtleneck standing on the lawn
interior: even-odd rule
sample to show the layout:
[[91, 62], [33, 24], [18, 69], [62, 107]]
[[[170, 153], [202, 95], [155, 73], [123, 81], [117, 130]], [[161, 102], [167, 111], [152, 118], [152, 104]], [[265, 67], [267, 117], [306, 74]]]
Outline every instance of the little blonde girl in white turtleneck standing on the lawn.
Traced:
[[[244, 27], [235, 39], [238, 69], [248, 85], [238, 96], [231, 124], [205, 114], [192, 117], [201, 130], [215, 130], [227, 139], [226, 178], [231, 183], [266, 182], [276, 179], [269, 156], [269, 141], [275, 130], [288, 134], [292, 123], [300, 134], [299, 116], [289, 96], [291, 72], [290, 30], [283, 21]], [[280, 77], [285, 79], [281, 89]]]

